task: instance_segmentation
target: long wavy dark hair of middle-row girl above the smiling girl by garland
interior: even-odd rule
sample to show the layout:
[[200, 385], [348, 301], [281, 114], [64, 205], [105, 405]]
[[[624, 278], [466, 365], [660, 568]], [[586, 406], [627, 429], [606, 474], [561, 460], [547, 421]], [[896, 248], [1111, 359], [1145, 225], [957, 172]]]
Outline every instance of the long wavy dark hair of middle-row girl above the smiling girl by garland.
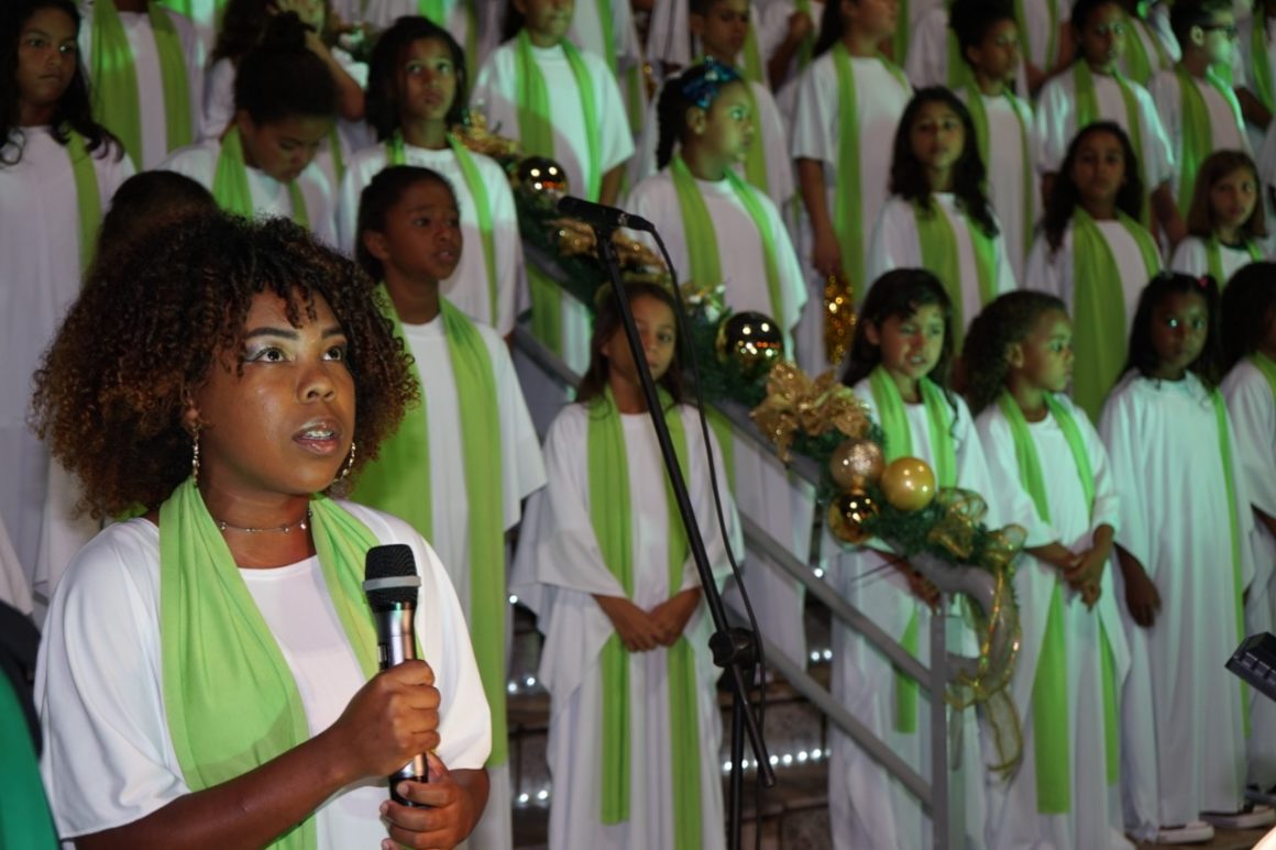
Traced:
[[937, 212], [933, 189], [926, 180], [926, 167], [921, 165], [916, 152], [912, 149], [912, 125], [921, 112], [921, 107], [928, 103], [943, 103], [961, 119], [965, 131], [965, 145], [957, 162], [953, 163], [953, 195], [957, 198], [957, 208], [977, 226], [985, 236], [997, 236], [997, 220], [993, 216], [993, 204], [984, 191], [988, 171], [984, 168], [984, 160], [979, 156], [979, 139], [975, 135], [975, 121], [970, 117], [970, 110], [956, 94], [943, 86], [930, 86], [919, 89], [894, 131], [894, 151], [891, 154], [891, 194], [900, 195], [907, 202], [915, 203], [925, 213]]

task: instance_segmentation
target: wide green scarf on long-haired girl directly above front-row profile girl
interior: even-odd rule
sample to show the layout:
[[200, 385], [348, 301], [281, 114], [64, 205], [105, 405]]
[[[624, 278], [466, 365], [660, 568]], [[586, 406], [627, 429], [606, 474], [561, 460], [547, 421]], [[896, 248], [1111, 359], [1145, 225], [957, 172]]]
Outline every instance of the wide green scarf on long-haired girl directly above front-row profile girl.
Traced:
[[[1147, 228], [1116, 213], [1143, 255], [1146, 281], [1161, 269], [1161, 255]], [[1099, 421], [1104, 398], [1125, 365], [1125, 291], [1113, 249], [1099, 225], [1081, 207], [1072, 213], [1072, 319], [1078, 369], [1072, 377], [1077, 407]]]

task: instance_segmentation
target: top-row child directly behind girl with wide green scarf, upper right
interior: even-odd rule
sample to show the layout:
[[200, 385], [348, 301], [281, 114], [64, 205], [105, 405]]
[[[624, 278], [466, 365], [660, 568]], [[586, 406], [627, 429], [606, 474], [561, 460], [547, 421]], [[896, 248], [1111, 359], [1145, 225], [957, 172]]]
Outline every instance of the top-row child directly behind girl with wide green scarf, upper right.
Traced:
[[1129, 134], [1137, 154], [1131, 162], [1139, 166], [1139, 183], [1148, 193], [1134, 217], [1148, 227], [1155, 218], [1175, 245], [1187, 231], [1174, 203], [1174, 151], [1152, 96], [1118, 70], [1128, 27], [1125, 10], [1116, 0], [1076, 0], [1073, 4], [1077, 60], [1071, 71], [1041, 87], [1036, 106], [1041, 195], [1050, 197], [1072, 138], [1094, 121], [1115, 121]]

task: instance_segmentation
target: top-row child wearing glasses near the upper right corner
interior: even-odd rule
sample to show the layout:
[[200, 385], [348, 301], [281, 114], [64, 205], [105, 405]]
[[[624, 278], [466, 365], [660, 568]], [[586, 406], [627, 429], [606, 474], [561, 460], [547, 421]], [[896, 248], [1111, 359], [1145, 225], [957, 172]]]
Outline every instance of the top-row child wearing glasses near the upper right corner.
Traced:
[[1148, 83], [1174, 147], [1174, 197], [1188, 214], [1197, 170], [1215, 151], [1249, 152], [1240, 103], [1216, 65], [1231, 66], [1236, 18], [1231, 0], [1178, 0], [1170, 11], [1183, 59]]

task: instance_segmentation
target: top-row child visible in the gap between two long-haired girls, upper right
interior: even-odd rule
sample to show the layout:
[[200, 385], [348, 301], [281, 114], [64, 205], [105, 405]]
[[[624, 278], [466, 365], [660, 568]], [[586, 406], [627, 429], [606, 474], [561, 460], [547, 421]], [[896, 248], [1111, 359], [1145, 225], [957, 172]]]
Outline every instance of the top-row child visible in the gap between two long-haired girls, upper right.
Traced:
[[975, 124], [979, 157], [988, 174], [989, 200], [1002, 226], [1005, 255], [1014, 280], [1023, 281], [1039, 204], [1032, 106], [1009, 87], [1018, 65], [1018, 24], [1013, 8], [1004, 0], [957, 0], [952, 18], [962, 57], [974, 74], [972, 84], [957, 91], [957, 96], [970, 108]]

